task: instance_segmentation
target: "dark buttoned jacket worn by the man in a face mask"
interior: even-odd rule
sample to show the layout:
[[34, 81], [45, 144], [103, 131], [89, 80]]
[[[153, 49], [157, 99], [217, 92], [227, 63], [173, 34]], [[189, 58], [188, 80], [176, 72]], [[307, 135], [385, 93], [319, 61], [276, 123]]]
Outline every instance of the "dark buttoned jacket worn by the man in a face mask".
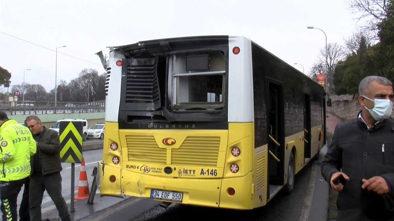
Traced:
[[[384, 145], [384, 152], [382, 151]], [[394, 122], [391, 118], [370, 129], [361, 118], [340, 123], [321, 166], [322, 176], [329, 183], [331, 175], [340, 171], [350, 178], [338, 193], [337, 221], [394, 220], [380, 219], [384, 209], [382, 195], [363, 191], [362, 179], [383, 177], [392, 195], [394, 187]], [[378, 214], [379, 213], [379, 214]], [[370, 217], [369, 215], [377, 215]]]

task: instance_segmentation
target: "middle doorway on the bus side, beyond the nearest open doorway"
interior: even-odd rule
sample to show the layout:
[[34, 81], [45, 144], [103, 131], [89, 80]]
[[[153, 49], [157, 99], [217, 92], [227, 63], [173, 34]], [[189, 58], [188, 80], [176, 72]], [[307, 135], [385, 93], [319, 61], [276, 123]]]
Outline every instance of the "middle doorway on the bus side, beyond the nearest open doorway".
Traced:
[[310, 160], [310, 95], [304, 94], [304, 164]]

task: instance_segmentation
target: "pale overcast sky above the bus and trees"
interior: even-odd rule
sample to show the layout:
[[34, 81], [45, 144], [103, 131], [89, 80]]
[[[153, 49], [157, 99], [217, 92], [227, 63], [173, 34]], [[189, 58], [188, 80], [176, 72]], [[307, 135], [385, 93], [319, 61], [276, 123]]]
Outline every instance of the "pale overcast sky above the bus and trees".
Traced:
[[[357, 25], [344, 0], [0, 0], [0, 31], [58, 53], [57, 77], [84, 68], [103, 73], [96, 52], [108, 46], [194, 35], [243, 35], [305, 74], [327, 42], [343, 44]], [[11, 85], [55, 87], [56, 53], [0, 33], [0, 66]], [[93, 64], [96, 63], [96, 64]]]

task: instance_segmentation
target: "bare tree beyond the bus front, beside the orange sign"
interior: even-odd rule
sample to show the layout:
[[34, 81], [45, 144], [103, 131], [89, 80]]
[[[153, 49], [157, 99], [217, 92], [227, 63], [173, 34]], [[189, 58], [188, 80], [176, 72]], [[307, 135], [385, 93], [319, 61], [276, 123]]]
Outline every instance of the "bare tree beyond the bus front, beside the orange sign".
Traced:
[[329, 93], [334, 91], [333, 73], [335, 66], [336, 64], [338, 64], [339, 61], [344, 58], [344, 55], [345, 52], [343, 47], [336, 42], [327, 44], [327, 50], [325, 48], [322, 48], [320, 50], [320, 55], [318, 57], [320, 61], [326, 64], [325, 68], [327, 68], [327, 70], [325, 71], [325, 73], [327, 74], [325, 75], [325, 81], [327, 91]]

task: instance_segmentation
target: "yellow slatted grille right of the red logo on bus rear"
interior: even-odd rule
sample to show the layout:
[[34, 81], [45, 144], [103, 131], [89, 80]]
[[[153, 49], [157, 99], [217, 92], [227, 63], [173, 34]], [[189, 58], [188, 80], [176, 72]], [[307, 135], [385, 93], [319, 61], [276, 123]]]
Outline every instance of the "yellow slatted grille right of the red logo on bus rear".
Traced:
[[171, 150], [171, 164], [216, 167], [219, 144], [219, 136], [188, 136], [179, 149]]

